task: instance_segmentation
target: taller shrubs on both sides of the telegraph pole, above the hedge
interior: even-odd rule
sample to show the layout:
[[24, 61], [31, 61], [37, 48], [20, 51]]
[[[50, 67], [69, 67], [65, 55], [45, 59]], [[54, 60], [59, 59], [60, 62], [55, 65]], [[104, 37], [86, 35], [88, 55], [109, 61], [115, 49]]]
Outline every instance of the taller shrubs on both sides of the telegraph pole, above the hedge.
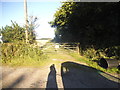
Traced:
[[[38, 20], [37, 17], [30, 16], [29, 24], [28, 24], [28, 39], [29, 43], [34, 43], [36, 39], [35, 28], [39, 25], [36, 24]], [[6, 25], [4, 28], [2, 27], [1, 33], [3, 35], [4, 42], [19, 42], [25, 41], [25, 27], [19, 26], [16, 22], [12, 22], [11, 26]]]

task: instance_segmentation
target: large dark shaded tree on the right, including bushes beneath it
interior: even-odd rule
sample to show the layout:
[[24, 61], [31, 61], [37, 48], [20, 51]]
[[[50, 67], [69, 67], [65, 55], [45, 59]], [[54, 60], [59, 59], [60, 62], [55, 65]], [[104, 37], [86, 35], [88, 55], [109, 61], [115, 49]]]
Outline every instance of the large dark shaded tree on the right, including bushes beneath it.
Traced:
[[120, 58], [119, 3], [63, 2], [54, 17], [57, 42], [79, 42], [80, 53], [89, 58], [97, 53]]

